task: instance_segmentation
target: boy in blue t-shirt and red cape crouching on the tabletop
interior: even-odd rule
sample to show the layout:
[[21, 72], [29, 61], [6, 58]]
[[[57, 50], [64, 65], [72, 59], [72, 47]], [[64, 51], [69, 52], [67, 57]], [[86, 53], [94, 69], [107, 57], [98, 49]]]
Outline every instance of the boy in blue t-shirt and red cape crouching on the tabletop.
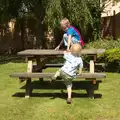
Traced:
[[80, 32], [73, 26], [70, 25], [70, 22], [67, 18], [64, 18], [60, 22], [62, 30], [65, 32], [63, 35], [63, 39], [60, 44], [55, 48], [58, 50], [60, 46], [64, 43], [65, 47], [67, 47], [67, 51], [70, 50], [72, 44], [78, 43], [84, 46], [84, 42], [80, 35]]

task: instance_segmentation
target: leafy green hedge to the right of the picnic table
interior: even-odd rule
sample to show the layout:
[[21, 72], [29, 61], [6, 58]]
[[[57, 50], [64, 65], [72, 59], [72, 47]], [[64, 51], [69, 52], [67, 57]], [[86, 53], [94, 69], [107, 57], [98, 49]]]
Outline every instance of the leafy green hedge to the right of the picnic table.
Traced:
[[[120, 39], [113, 40], [97, 40], [90, 42], [86, 45], [86, 48], [103, 48], [106, 52], [99, 55], [98, 62], [105, 63], [105, 71], [107, 72], [120, 72]], [[88, 58], [84, 58], [88, 60]]]

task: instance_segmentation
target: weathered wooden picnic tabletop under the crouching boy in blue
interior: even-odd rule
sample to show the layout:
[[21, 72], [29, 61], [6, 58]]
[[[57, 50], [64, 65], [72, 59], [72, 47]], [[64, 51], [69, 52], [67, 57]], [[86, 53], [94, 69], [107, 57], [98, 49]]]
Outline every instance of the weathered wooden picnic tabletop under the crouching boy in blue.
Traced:
[[[105, 49], [83, 49], [81, 54], [97, 55], [105, 52]], [[34, 56], [34, 55], [63, 55], [63, 50], [53, 49], [28, 49], [18, 52], [18, 55], [22, 56]]]

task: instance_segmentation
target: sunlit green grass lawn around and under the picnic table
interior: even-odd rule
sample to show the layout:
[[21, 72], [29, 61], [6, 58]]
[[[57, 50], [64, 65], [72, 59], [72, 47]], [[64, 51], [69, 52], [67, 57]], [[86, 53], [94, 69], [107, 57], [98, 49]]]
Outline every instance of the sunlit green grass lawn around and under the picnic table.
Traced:
[[[120, 120], [120, 74], [107, 73], [96, 91], [102, 98], [76, 96], [68, 105], [61, 97], [61, 89], [35, 89], [33, 93], [38, 96], [30, 99], [13, 97], [15, 93], [24, 93], [24, 89], [20, 89], [24, 83], [9, 77], [16, 71], [26, 71], [26, 64], [0, 65], [0, 120]], [[86, 93], [83, 90], [73, 92]]]

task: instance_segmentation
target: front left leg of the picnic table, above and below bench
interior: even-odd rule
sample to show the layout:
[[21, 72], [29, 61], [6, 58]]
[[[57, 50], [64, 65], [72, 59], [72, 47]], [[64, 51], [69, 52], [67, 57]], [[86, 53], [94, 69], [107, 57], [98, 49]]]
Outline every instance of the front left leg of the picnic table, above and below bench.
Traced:
[[[32, 72], [32, 58], [28, 58], [27, 72], [28, 73]], [[25, 98], [29, 98], [31, 94], [32, 94], [31, 78], [28, 78], [26, 80]]]

